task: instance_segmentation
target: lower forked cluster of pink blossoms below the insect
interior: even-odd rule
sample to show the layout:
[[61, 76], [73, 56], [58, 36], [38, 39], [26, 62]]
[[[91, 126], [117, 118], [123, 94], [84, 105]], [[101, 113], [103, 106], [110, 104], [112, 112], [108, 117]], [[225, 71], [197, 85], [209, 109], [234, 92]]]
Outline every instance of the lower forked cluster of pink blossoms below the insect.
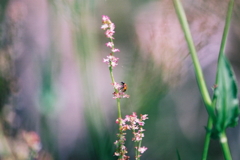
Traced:
[[[118, 118], [116, 120], [116, 123], [119, 124], [121, 131], [119, 134], [117, 134], [119, 140], [117, 140], [114, 144], [117, 147], [117, 151], [115, 152], [115, 156], [121, 156], [122, 159], [126, 159], [128, 156], [125, 154], [127, 153], [127, 148], [124, 146], [125, 144], [125, 135], [124, 133], [126, 130], [131, 130], [133, 133], [132, 141], [135, 142], [135, 149], [137, 150], [138, 154], [136, 155], [136, 159], [140, 158], [140, 154], [144, 153], [147, 148], [145, 146], [141, 147], [141, 141], [144, 137], [143, 126], [145, 124], [145, 120], [148, 119], [148, 115], [140, 115], [140, 119], [137, 117], [137, 114], [135, 112], [132, 113], [132, 115], [126, 115], [125, 119]], [[120, 158], [120, 159], [121, 159]]]

